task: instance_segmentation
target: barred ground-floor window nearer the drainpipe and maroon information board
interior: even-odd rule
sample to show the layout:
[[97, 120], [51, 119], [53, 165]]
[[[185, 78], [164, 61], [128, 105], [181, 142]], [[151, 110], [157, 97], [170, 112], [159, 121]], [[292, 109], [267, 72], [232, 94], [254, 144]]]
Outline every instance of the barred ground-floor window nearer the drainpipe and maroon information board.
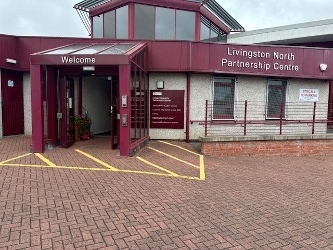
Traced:
[[234, 119], [235, 79], [214, 78], [213, 120]]

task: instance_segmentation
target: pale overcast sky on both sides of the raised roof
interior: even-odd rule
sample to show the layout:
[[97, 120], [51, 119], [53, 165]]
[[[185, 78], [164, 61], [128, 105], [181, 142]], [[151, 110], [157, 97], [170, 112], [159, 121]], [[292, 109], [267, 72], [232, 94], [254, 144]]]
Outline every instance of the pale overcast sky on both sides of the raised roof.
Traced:
[[[155, 0], [158, 1], [158, 0]], [[88, 37], [80, 0], [0, 0], [0, 34]], [[217, 0], [246, 30], [333, 18], [333, 0]]]

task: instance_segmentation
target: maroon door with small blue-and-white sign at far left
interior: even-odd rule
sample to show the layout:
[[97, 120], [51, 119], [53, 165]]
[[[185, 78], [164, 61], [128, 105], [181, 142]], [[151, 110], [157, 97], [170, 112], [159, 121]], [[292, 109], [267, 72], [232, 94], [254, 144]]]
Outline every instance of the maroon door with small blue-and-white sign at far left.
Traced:
[[3, 135], [24, 134], [22, 73], [1, 70]]

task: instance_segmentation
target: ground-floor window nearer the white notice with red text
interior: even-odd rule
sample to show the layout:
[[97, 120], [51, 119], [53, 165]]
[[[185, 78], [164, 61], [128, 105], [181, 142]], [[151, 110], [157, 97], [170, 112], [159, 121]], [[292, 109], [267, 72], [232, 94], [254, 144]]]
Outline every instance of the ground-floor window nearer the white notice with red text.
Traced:
[[266, 118], [285, 118], [285, 102], [287, 92], [286, 80], [268, 80], [267, 83], [267, 103]]

